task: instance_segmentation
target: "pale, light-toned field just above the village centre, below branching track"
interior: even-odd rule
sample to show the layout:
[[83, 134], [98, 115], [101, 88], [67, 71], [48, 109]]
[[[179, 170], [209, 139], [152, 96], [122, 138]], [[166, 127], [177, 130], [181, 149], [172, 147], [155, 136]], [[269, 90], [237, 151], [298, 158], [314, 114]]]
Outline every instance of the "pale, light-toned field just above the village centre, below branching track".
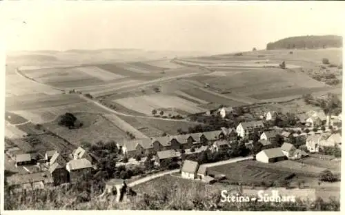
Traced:
[[152, 115], [153, 109], [175, 107], [189, 113], [204, 112], [206, 110], [197, 107], [197, 104], [191, 103], [177, 96], [167, 95], [150, 95], [150, 96], [137, 96], [126, 99], [117, 99], [116, 103], [123, 105], [129, 109], [144, 114]]

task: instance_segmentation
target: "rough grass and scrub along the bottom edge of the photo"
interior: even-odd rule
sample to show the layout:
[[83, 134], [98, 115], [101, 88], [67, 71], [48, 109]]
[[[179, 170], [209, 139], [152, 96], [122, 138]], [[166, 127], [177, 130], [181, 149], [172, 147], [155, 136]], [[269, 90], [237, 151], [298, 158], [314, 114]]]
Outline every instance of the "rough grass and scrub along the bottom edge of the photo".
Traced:
[[[134, 187], [135, 196], [128, 196], [116, 203], [114, 196], [107, 201], [95, 198], [102, 186], [86, 181], [55, 190], [37, 190], [32, 193], [5, 194], [5, 209], [152, 209], [152, 210], [248, 210], [248, 211], [339, 211], [339, 201], [316, 201], [295, 203], [223, 203], [221, 190], [208, 185], [171, 177], [160, 178], [155, 183]], [[88, 184], [87, 184], [88, 183]], [[95, 183], [95, 181], [94, 181]], [[128, 201], [129, 200], [129, 201]]]

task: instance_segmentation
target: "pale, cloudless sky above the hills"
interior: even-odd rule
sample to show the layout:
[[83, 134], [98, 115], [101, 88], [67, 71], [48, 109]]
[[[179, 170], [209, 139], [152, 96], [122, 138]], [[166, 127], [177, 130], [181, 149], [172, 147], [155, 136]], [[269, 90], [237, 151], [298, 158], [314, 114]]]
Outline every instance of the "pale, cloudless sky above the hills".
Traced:
[[340, 2], [6, 2], [8, 51], [138, 48], [210, 53], [344, 33]]

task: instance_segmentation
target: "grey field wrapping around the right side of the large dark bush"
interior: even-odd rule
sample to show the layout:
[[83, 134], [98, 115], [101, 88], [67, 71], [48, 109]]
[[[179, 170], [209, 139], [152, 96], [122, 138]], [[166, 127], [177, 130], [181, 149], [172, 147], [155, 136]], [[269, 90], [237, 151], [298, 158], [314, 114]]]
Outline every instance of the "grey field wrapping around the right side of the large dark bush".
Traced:
[[69, 130], [58, 125], [57, 121], [44, 123], [43, 126], [76, 146], [83, 141], [97, 143], [97, 141], [121, 141], [128, 138], [125, 131], [101, 114], [76, 113], [75, 116], [83, 123], [78, 129]]

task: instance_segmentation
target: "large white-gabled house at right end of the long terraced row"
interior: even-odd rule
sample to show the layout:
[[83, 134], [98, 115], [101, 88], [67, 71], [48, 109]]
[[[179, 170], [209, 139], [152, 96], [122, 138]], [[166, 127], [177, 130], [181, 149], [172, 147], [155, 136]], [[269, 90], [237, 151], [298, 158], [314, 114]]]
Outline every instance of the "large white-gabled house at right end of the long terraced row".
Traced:
[[254, 134], [259, 134], [264, 131], [264, 123], [262, 121], [250, 121], [239, 123], [236, 127], [236, 132], [238, 136], [242, 139], [248, 138], [253, 139]]

